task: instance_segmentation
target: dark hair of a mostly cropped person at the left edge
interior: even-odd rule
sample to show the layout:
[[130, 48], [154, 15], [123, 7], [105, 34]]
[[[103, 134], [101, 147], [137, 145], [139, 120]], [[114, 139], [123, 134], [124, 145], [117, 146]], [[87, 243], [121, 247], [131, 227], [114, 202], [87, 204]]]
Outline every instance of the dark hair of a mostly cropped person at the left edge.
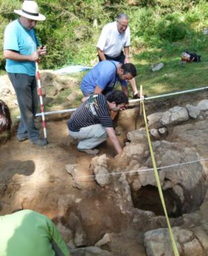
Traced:
[[7, 104], [0, 100], [0, 133], [11, 129], [11, 116]]

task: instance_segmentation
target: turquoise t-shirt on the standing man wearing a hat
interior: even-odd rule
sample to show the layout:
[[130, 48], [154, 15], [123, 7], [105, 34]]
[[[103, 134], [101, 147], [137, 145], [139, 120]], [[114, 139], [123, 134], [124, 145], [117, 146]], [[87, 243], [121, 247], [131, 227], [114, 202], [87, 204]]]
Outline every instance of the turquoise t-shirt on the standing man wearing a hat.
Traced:
[[[31, 55], [39, 46], [35, 30], [24, 28], [19, 20], [10, 23], [5, 30], [4, 50], [17, 51], [22, 55]], [[35, 75], [35, 61], [16, 61], [7, 59], [6, 70], [9, 73]]]

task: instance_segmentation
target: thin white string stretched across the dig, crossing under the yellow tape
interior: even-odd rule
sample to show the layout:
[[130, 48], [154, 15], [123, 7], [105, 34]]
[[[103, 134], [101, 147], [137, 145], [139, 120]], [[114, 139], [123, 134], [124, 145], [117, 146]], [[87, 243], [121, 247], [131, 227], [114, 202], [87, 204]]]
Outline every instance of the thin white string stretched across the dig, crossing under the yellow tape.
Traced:
[[[195, 163], [195, 162], [200, 162], [200, 161], [207, 161], [207, 160], [208, 160], [208, 158], [203, 158], [203, 159], [193, 160], [193, 161], [189, 161], [189, 162], [182, 162], [182, 163], [176, 163], [176, 164], [171, 164], [171, 165], [167, 165], [167, 166], [157, 167], [157, 169], [161, 170], [161, 169], [165, 169], [165, 168], [170, 168], [170, 167], [175, 167], [175, 166], [180, 166], [180, 165]], [[154, 170], [154, 168], [147, 168], [147, 169], [138, 169], [138, 170], [128, 170], [128, 171], [124, 171], [124, 172], [110, 173], [110, 174], [97, 174], [97, 175], [85, 175], [85, 176], [68, 177], [68, 178], [57, 178], [57, 179], [47, 180], [47, 182], [63, 181], [63, 180], [74, 180], [74, 181], [76, 181], [77, 179], [83, 179], [83, 178], [95, 178], [95, 177], [104, 177], [104, 176], [116, 176], [116, 175], [122, 175], [122, 174], [143, 173], [143, 172], [153, 171], [153, 170]], [[17, 183], [5, 183], [5, 184], [0, 184], [0, 186], [24, 185], [26, 183], [34, 183], [34, 181], [17, 182]]]

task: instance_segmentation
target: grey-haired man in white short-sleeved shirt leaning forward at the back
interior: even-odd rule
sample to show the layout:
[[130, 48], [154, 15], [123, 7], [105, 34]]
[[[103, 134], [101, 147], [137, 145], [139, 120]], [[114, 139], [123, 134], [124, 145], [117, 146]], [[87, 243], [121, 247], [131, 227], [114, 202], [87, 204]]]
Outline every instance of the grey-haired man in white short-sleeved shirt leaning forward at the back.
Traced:
[[[128, 24], [128, 16], [126, 14], [119, 14], [117, 21], [109, 23], [102, 28], [96, 45], [99, 61], [116, 60], [121, 63], [130, 63], [130, 29]], [[129, 80], [129, 82], [134, 98], [138, 98], [135, 78]]]

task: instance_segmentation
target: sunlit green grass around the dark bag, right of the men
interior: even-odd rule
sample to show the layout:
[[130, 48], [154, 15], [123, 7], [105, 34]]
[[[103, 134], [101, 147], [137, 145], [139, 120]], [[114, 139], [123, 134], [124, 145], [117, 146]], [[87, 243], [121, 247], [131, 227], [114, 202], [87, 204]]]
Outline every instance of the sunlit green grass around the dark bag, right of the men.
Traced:
[[[208, 42], [208, 40], [206, 39]], [[207, 86], [208, 53], [207, 49], [197, 52], [201, 55], [201, 62], [180, 64], [180, 54], [168, 52], [153, 52], [146, 50], [135, 56], [138, 68], [137, 87], [143, 85], [145, 94], [149, 96], [171, 93], [181, 90], [190, 90]], [[155, 63], [164, 63], [163, 69], [152, 72], [150, 67]]]

